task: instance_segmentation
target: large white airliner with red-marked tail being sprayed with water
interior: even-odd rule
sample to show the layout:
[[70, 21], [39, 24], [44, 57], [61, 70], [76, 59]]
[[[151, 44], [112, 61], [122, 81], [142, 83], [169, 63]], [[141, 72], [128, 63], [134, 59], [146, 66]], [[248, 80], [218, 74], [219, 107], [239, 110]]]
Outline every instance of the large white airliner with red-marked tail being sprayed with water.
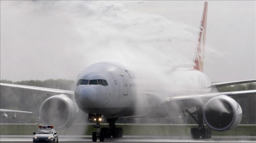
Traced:
[[[188, 68], [180, 66], [171, 71], [168, 77], [171, 91], [163, 91], [158, 83], [145, 80], [122, 64], [106, 61], [85, 68], [77, 77], [74, 91], [7, 83], [0, 83], [0, 86], [53, 95], [42, 103], [39, 114], [45, 125], [58, 129], [70, 128], [75, 123], [79, 107], [88, 114], [89, 121], [96, 123], [93, 142], [97, 138], [101, 142], [104, 138], [122, 138], [123, 128], [115, 124], [120, 117], [166, 118], [185, 113], [198, 124], [198, 128], [190, 130], [192, 138], [211, 138], [212, 130], [229, 131], [241, 121], [242, 109], [230, 96], [256, 93], [256, 90], [213, 92], [213, 89], [256, 82], [256, 79], [212, 83], [203, 73], [207, 12], [208, 2], [204, 2], [194, 63]], [[108, 128], [101, 128], [103, 118], [107, 119]]]

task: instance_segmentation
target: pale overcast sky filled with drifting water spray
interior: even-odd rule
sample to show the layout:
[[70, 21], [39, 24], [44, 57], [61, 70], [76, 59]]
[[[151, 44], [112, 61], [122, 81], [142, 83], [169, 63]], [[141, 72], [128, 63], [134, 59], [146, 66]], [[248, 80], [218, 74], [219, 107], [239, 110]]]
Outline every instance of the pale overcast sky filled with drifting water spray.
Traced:
[[[204, 1], [0, 1], [0, 79], [75, 79], [100, 61], [192, 64]], [[208, 1], [204, 73], [256, 78], [256, 1]], [[166, 70], [168, 71], [168, 69]]]

